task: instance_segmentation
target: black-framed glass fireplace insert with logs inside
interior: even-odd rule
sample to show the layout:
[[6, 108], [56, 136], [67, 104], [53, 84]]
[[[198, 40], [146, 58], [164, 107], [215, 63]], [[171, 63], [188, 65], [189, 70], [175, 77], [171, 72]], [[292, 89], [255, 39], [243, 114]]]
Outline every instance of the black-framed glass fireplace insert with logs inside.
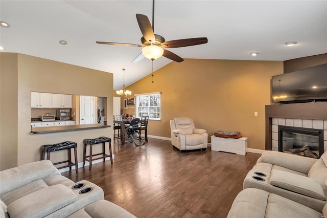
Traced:
[[278, 151], [318, 159], [323, 146], [323, 129], [278, 125]]

